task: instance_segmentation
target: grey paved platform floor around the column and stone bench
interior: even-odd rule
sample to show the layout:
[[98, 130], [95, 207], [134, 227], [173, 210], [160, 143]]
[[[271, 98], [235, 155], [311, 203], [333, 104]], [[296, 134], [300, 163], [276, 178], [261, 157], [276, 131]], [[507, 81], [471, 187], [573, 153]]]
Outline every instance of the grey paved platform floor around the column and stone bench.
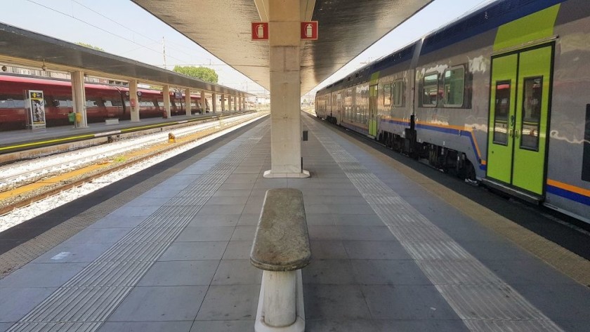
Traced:
[[253, 331], [261, 271], [249, 251], [275, 187], [303, 192], [306, 331], [588, 331], [588, 276], [487, 227], [525, 232], [482, 206], [303, 123], [311, 178], [263, 178], [265, 120], [112, 211], [89, 208], [95, 223], [0, 279], [0, 331]]

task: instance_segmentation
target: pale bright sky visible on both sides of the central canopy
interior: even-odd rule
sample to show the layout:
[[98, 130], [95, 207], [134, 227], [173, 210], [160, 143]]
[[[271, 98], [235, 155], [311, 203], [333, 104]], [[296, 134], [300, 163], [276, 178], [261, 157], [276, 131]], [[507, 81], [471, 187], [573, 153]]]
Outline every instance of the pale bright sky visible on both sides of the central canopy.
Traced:
[[[381, 58], [490, 1], [494, 0], [433, 1], [317, 88], [341, 79], [367, 62]], [[198, 4], [198, 1], [195, 2]], [[218, 84], [257, 95], [265, 93], [264, 88], [254, 81], [225, 65], [132, 1], [0, 0], [0, 4], [0, 22], [5, 24], [72, 43], [91, 44], [107, 53], [157, 67], [164, 67], [164, 61], [167, 69], [175, 65], [210, 67], [219, 75]]]

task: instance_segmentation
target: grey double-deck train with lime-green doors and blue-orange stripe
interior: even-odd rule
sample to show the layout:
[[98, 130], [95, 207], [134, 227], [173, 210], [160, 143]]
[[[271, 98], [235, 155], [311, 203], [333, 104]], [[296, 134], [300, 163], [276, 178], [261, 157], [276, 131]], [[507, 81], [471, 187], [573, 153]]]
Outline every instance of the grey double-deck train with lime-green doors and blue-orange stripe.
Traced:
[[590, 1], [498, 0], [315, 95], [317, 117], [590, 223]]

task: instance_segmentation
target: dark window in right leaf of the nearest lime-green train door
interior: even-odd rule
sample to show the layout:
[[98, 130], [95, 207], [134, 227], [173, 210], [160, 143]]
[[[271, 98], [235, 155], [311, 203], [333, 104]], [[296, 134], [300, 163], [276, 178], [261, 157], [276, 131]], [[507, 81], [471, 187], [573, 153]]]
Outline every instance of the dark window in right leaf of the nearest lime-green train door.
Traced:
[[523, 121], [520, 128], [520, 148], [539, 151], [539, 125], [541, 124], [541, 100], [543, 77], [525, 78], [523, 93]]

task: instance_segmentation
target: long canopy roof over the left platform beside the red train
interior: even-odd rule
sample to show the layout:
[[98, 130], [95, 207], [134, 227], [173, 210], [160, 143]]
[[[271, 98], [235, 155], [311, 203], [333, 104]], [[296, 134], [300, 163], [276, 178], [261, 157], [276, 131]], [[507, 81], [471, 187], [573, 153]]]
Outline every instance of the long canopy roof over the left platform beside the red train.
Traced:
[[0, 23], [0, 61], [32, 67], [41, 67], [45, 64], [48, 69], [53, 70], [83, 70], [86, 74], [97, 77], [122, 81], [138, 79], [141, 83], [169, 84], [173, 87], [194, 88], [210, 93], [251, 95], [4, 23]]

